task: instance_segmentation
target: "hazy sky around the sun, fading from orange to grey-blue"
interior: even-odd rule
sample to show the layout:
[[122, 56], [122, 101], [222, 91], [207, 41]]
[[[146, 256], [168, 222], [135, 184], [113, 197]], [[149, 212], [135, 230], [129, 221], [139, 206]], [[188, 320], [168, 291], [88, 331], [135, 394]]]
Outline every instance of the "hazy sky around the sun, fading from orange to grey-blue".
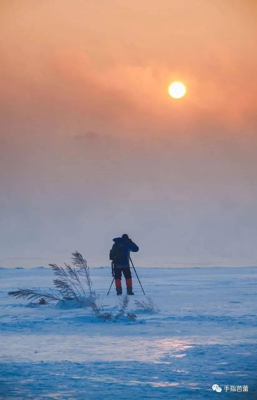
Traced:
[[[47, 231], [61, 226], [59, 236], [67, 211], [71, 236], [80, 218], [95, 224], [95, 234], [103, 230], [102, 264], [108, 262], [109, 247], [104, 232], [115, 236], [115, 229], [132, 230], [131, 214], [139, 224], [132, 231], [140, 232], [139, 241], [150, 215], [156, 216], [145, 249], [178, 224], [178, 256], [195, 254], [194, 246], [200, 255], [231, 256], [239, 243], [239, 255], [257, 256], [243, 244], [257, 193], [255, 1], [2, 1], [0, 27], [5, 257], [10, 248], [24, 256], [48, 254], [49, 248], [51, 254], [65, 252], [69, 234], [56, 249]], [[180, 100], [168, 95], [173, 80], [187, 87]], [[121, 192], [114, 196], [110, 177], [117, 170]], [[67, 188], [76, 191], [79, 182], [83, 189], [76, 197]], [[221, 251], [222, 240], [212, 248], [217, 220], [209, 239], [201, 226], [212, 206], [219, 218], [224, 204], [231, 210], [231, 198], [234, 213], [221, 225], [227, 235], [239, 233], [227, 253]], [[178, 210], [178, 204], [184, 208]], [[50, 214], [54, 228], [47, 223]], [[97, 215], [108, 215], [108, 224], [96, 222]], [[231, 220], [238, 216], [235, 229]], [[27, 233], [20, 243], [24, 220]], [[196, 226], [200, 243], [193, 239]], [[38, 229], [40, 238], [32, 240]], [[94, 248], [94, 235], [80, 232]]]

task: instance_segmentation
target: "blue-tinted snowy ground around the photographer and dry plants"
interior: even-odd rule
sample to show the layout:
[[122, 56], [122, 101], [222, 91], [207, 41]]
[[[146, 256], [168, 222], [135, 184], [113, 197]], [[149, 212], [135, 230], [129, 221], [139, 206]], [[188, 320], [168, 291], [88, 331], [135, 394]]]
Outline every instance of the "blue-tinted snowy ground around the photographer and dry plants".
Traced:
[[[138, 268], [128, 312], [104, 321], [86, 308], [32, 306], [18, 287], [54, 290], [47, 268], [0, 270], [0, 399], [257, 399], [257, 268]], [[111, 268], [91, 269], [105, 310], [117, 314]], [[123, 278], [123, 287], [124, 287]], [[125, 313], [126, 314], [126, 313]], [[217, 394], [212, 385], [248, 385]]]

